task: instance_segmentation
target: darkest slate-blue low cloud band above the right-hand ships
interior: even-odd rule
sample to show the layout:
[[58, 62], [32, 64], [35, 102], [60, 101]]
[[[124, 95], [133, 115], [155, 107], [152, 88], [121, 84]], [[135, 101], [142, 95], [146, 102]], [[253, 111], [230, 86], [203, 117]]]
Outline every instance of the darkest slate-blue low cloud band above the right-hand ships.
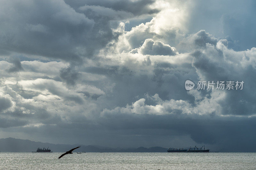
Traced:
[[[113, 119], [116, 121], [107, 123]], [[219, 117], [179, 113], [156, 116], [116, 112], [101, 117], [99, 121], [111, 130], [134, 130], [134, 135], [145, 135], [151, 129], [156, 130], [150, 133], [154, 136], [161, 133], [162, 135], [189, 135], [197, 143], [218, 144], [223, 147], [221, 148], [223, 151], [251, 152], [255, 140], [255, 117]], [[141, 131], [136, 131], [138, 129]], [[159, 136], [157, 138], [159, 139]], [[242, 145], [243, 148], [234, 148], [236, 145]]]

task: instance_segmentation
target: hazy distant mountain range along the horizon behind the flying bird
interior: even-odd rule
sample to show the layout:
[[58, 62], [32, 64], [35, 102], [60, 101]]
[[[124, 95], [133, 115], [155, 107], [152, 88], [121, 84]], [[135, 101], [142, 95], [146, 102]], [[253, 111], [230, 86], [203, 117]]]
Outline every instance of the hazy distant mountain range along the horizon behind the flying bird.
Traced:
[[[66, 152], [77, 145], [80, 144], [50, 144], [16, 138], [1, 138], [0, 152], [35, 152], [38, 147], [49, 147], [52, 152]], [[98, 145], [81, 145], [80, 148], [76, 149], [76, 152], [167, 152], [167, 150], [167, 148], [159, 146], [150, 148], [111, 148]]]

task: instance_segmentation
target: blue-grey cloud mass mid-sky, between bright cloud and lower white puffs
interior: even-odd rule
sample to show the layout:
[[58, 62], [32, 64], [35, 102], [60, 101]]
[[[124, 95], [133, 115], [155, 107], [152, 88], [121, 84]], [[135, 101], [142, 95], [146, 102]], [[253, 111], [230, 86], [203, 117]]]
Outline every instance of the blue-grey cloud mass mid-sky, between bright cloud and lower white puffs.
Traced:
[[[134, 67], [141, 67], [141, 64], [132, 63]], [[115, 96], [102, 96], [99, 98], [102, 105], [110, 106], [125, 106], [127, 103], [134, 102], [137, 97], [145, 97], [158, 93], [163, 99], [184, 99], [194, 100], [192, 96], [187, 95], [184, 89], [184, 82], [187, 79], [196, 79], [196, 72], [191, 65], [186, 63], [180, 66], [168, 65], [169, 63], [160, 62], [155, 63], [155, 66], [149, 66], [152, 74], [147, 71], [140, 72], [140, 70], [127, 68], [127, 66], [118, 67], [88, 67], [85, 68], [86, 72], [101, 74], [108, 77], [106, 82], [115, 83], [112, 89], [112, 95]], [[170, 66], [170, 67], [166, 67]], [[183, 67], [190, 67], [191, 72], [188, 73]], [[152, 69], [152, 70], [151, 70]], [[98, 86], [100, 89], [104, 85]], [[179, 93], [176, 93], [179, 91]], [[103, 102], [105, 101], [105, 102]], [[106, 104], [107, 103], [107, 104]]]

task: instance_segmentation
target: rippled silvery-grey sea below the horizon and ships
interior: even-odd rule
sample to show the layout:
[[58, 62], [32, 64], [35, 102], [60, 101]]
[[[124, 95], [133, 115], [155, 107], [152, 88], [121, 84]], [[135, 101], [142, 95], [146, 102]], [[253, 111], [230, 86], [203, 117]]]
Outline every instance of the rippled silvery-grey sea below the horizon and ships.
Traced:
[[0, 169], [256, 169], [256, 153], [62, 153], [1, 152]]

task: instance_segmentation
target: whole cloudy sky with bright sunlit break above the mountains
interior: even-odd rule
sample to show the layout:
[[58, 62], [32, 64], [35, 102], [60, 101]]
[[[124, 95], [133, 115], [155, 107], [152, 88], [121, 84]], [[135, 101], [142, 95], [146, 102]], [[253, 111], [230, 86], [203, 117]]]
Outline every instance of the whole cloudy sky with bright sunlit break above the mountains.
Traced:
[[1, 138], [255, 152], [255, 7], [0, 1]]

